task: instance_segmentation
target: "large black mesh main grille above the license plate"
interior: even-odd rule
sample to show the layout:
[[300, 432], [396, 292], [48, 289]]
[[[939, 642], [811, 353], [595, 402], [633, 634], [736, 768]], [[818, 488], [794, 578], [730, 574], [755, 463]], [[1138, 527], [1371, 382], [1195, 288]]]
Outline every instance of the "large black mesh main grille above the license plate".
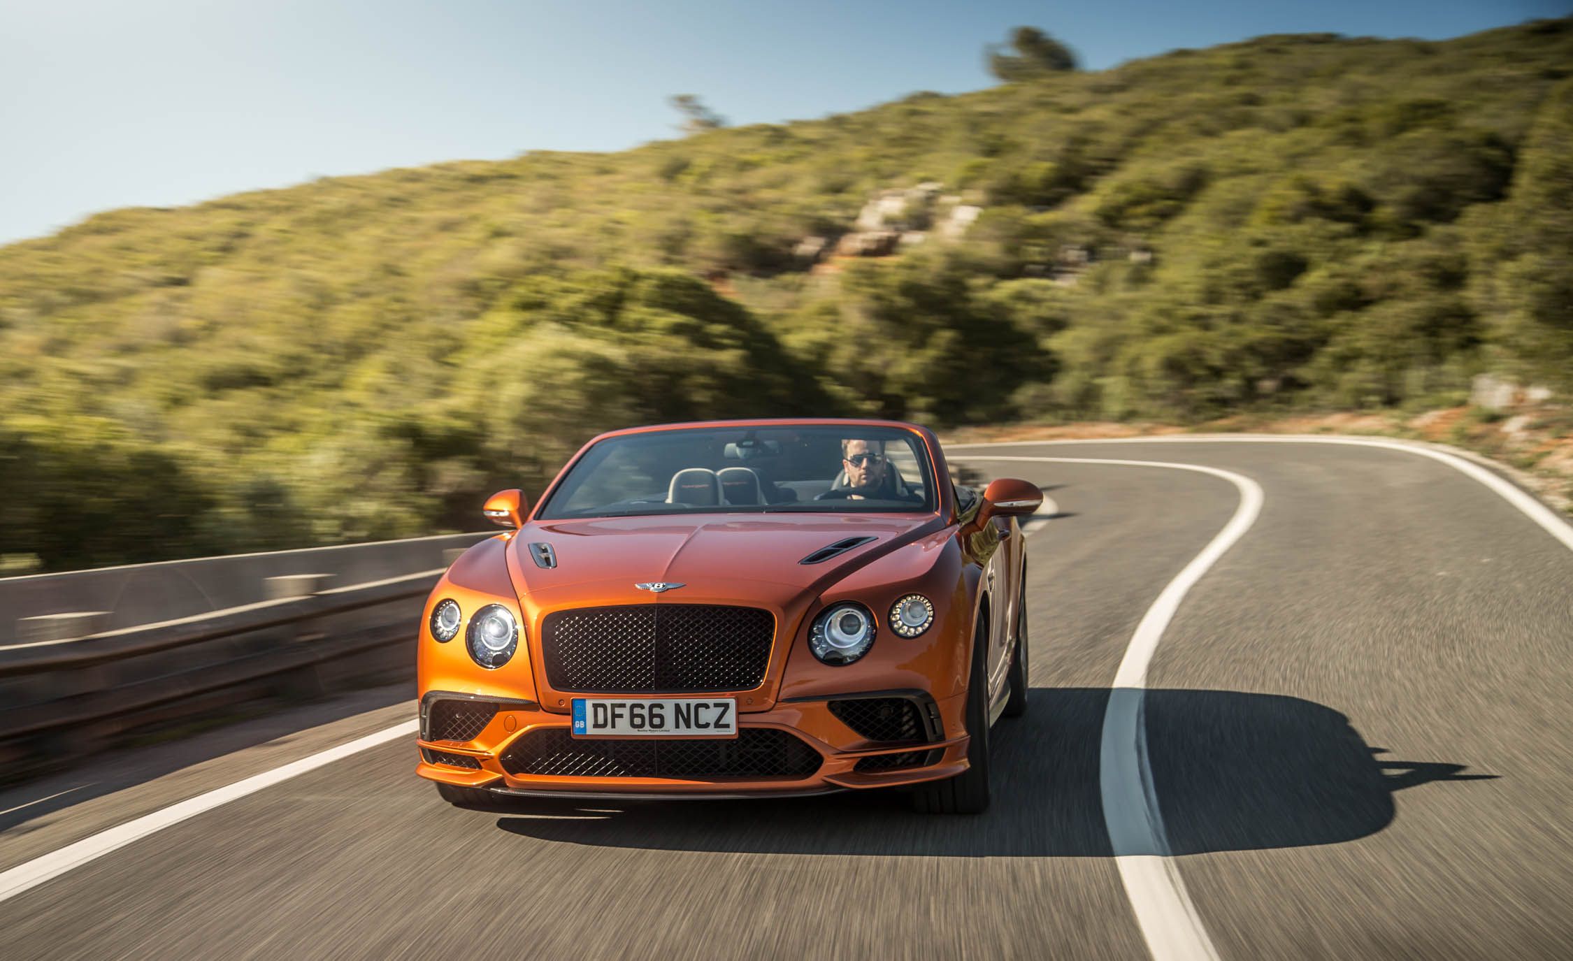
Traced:
[[541, 653], [557, 690], [750, 690], [764, 679], [774, 637], [775, 617], [757, 607], [584, 607], [546, 615]]

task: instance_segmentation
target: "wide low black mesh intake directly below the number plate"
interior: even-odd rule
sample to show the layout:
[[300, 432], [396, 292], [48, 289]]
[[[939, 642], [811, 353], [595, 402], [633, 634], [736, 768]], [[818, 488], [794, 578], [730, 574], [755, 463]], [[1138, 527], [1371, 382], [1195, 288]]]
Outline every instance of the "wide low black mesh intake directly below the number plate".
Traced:
[[568, 728], [530, 731], [508, 749], [508, 774], [552, 777], [780, 777], [820, 769], [820, 752], [775, 728], [741, 728], [736, 739], [574, 739]]

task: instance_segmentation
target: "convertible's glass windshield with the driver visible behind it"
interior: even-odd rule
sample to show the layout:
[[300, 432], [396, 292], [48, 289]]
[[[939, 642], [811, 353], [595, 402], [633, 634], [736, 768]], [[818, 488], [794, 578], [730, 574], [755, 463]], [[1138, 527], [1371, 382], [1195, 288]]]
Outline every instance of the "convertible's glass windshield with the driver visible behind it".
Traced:
[[538, 519], [618, 514], [933, 511], [933, 466], [912, 431], [691, 428], [591, 447]]

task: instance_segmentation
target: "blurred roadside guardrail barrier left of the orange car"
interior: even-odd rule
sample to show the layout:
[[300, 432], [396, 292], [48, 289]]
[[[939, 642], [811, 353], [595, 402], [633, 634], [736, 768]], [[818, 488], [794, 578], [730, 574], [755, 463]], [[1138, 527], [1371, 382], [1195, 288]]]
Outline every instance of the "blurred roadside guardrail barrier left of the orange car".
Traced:
[[[0, 780], [90, 757], [140, 731], [236, 714], [261, 700], [412, 678], [422, 602], [447, 563], [486, 536], [0, 580], [6, 602], [0, 610], [16, 634], [14, 642], [0, 643]], [[398, 566], [404, 571], [327, 587], [344, 580], [341, 571]], [[220, 580], [225, 576], [231, 580]], [[171, 579], [219, 584], [219, 598], [242, 602], [206, 610], [175, 606], [175, 617], [110, 629], [105, 624], [116, 612], [94, 610], [105, 591], [124, 596], [138, 582]], [[68, 590], [72, 580], [82, 590]], [[44, 590], [30, 591], [27, 582]], [[209, 604], [216, 596], [193, 593]], [[17, 599], [22, 604], [11, 606]], [[165, 612], [145, 598], [132, 607]], [[118, 615], [127, 620], [126, 606], [118, 606]], [[83, 629], [93, 632], [76, 635]]]

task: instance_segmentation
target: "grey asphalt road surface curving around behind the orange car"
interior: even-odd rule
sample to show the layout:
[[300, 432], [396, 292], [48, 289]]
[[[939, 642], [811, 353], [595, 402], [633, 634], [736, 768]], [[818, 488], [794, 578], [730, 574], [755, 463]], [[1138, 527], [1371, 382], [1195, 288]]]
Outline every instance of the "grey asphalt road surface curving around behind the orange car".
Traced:
[[[1573, 550], [1392, 450], [963, 453], [1205, 464], [1260, 484], [1260, 516], [1184, 596], [1147, 675], [1167, 865], [1219, 956], [1573, 956]], [[0, 955], [1162, 955], [1114, 857], [1100, 738], [1133, 632], [1240, 492], [1162, 467], [975, 466], [1040, 483], [1062, 511], [1029, 541], [1035, 690], [999, 728], [988, 815], [879, 796], [462, 812], [396, 741], [0, 901]], [[0, 796], [0, 870], [404, 720], [403, 697]]]

